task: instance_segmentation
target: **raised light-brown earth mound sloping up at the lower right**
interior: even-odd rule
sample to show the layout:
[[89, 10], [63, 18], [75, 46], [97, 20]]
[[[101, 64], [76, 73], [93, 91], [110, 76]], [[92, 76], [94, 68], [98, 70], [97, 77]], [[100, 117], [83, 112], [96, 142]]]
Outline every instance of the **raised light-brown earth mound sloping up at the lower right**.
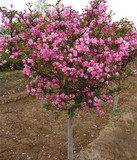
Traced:
[[137, 111], [134, 110], [137, 94], [131, 100], [123, 104], [127, 108], [122, 109], [120, 117], [115, 117], [117, 122], [110, 120], [87, 149], [80, 152], [79, 160], [137, 160]]

